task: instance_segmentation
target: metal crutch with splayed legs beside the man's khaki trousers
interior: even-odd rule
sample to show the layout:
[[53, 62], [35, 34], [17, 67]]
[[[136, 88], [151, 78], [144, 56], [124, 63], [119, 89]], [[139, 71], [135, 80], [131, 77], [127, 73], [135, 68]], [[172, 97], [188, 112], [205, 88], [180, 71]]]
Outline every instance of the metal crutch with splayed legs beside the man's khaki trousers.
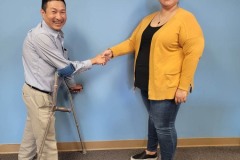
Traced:
[[[58, 107], [57, 106], [57, 93], [58, 93], [58, 88], [61, 85], [61, 84], [59, 84], [60, 78], [62, 78], [62, 83], [64, 84], [64, 86], [67, 90], [68, 98], [69, 98], [70, 105], [71, 105], [69, 108]], [[67, 84], [64, 80], [64, 77], [60, 77], [57, 72], [55, 73], [55, 82], [54, 82], [54, 89], [53, 89], [53, 96], [52, 97], [53, 97], [53, 105], [52, 105], [51, 113], [50, 113], [49, 118], [48, 118], [48, 123], [47, 123], [46, 129], [45, 129], [45, 132], [44, 132], [44, 135], [43, 135], [42, 143], [41, 143], [41, 146], [39, 148], [39, 152], [37, 154], [37, 160], [41, 159], [43, 148], [44, 148], [45, 141], [46, 141], [46, 138], [47, 138], [47, 134], [48, 134], [49, 128], [50, 128], [51, 119], [54, 116], [56, 111], [72, 112], [73, 113], [75, 125], [76, 125], [77, 132], [78, 132], [78, 137], [79, 137], [80, 144], [81, 144], [82, 153], [86, 154], [87, 151], [86, 151], [86, 148], [84, 146], [84, 143], [82, 142], [82, 137], [81, 137], [81, 134], [80, 134], [79, 124], [77, 122], [77, 116], [76, 116], [76, 112], [75, 112], [75, 109], [74, 109], [72, 95], [70, 93], [70, 90], [68, 89], [68, 86], [67, 86]]]

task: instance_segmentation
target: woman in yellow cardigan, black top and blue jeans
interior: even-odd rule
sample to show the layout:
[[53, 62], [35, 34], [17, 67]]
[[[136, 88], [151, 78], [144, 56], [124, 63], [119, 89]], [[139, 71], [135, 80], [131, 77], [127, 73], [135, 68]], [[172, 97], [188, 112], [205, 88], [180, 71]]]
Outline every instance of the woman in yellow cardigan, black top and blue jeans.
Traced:
[[202, 30], [179, 0], [159, 0], [161, 9], [146, 16], [131, 37], [103, 52], [108, 58], [135, 53], [135, 87], [149, 113], [147, 149], [132, 160], [173, 160], [177, 146], [175, 119], [193, 87], [204, 49]]

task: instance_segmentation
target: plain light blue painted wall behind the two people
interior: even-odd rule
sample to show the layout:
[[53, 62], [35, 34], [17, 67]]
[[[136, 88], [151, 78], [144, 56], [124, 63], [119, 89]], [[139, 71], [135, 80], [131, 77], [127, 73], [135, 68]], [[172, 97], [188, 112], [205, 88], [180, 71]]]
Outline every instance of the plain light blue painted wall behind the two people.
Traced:
[[[195, 90], [178, 118], [179, 138], [240, 137], [239, 0], [182, 0], [193, 12], [206, 38], [195, 76]], [[145, 15], [159, 8], [157, 0], [71, 0], [64, 27], [71, 59], [86, 60], [126, 39]], [[1, 0], [0, 5], [0, 144], [20, 143], [26, 108], [22, 43], [41, 20], [40, 0]], [[133, 56], [94, 66], [76, 77], [84, 91], [74, 95], [85, 141], [145, 139], [147, 113], [139, 91], [133, 90]], [[66, 95], [59, 103], [68, 105]], [[78, 141], [71, 114], [57, 113], [57, 139]]]

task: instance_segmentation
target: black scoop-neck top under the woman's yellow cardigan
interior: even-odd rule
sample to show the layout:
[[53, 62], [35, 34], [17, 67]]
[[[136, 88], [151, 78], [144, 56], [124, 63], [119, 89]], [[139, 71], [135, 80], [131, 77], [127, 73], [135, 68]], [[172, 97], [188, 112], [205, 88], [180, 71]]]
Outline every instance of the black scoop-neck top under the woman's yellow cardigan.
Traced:
[[[151, 23], [150, 23], [151, 24]], [[149, 80], [149, 56], [152, 37], [159, 27], [151, 27], [150, 24], [142, 34], [141, 44], [135, 66], [135, 87], [148, 91]]]

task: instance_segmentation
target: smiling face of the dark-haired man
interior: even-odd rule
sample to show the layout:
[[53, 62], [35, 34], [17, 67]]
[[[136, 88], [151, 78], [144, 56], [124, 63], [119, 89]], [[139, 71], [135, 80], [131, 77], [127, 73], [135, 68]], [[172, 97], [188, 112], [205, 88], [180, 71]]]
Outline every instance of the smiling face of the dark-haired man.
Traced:
[[67, 20], [66, 6], [62, 1], [49, 1], [46, 11], [41, 14], [47, 25], [54, 30], [61, 30]]

